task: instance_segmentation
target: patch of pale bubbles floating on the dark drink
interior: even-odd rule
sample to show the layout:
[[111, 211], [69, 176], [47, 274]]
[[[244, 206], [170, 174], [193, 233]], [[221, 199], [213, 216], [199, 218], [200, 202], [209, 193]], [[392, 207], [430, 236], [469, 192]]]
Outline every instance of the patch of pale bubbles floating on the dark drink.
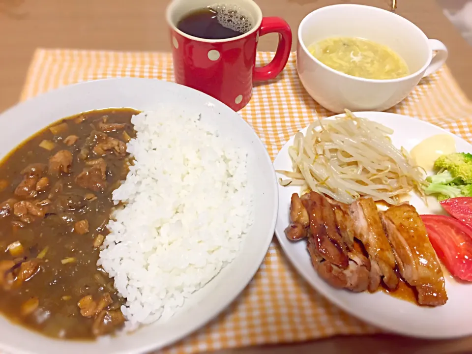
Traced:
[[241, 34], [249, 32], [253, 27], [251, 15], [237, 5], [214, 4], [208, 8], [216, 12], [216, 18], [223, 27]]

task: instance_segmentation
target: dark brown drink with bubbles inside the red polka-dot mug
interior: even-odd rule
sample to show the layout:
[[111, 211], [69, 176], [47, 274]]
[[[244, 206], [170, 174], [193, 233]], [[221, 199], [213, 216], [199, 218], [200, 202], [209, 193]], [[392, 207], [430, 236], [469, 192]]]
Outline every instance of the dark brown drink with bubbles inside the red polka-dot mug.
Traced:
[[214, 4], [187, 13], [177, 29], [194, 37], [204, 39], [227, 39], [237, 37], [252, 29], [251, 16], [239, 6]]

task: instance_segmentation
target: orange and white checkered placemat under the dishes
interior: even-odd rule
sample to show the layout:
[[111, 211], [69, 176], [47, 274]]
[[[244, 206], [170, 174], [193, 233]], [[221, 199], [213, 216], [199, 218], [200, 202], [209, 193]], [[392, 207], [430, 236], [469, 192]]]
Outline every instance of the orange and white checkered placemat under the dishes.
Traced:
[[[272, 55], [258, 53], [258, 64], [268, 62]], [[80, 81], [123, 76], [173, 81], [171, 55], [39, 49], [21, 99]], [[472, 103], [445, 66], [423, 79], [407, 99], [390, 111], [428, 120], [472, 142]], [[272, 158], [292, 135], [316, 117], [332, 115], [303, 89], [296, 74], [295, 53], [277, 79], [256, 84], [251, 101], [239, 114], [254, 128]], [[313, 290], [288, 264], [274, 239], [264, 263], [242, 295], [207, 326], [162, 352], [196, 353], [378, 331]]]

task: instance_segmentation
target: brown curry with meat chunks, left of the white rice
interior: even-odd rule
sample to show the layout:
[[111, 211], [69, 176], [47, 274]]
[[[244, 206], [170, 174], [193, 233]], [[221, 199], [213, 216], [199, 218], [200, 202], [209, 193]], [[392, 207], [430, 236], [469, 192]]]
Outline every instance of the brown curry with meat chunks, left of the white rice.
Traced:
[[57, 338], [93, 339], [125, 319], [97, 266], [126, 176], [131, 109], [62, 119], [0, 164], [0, 312]]

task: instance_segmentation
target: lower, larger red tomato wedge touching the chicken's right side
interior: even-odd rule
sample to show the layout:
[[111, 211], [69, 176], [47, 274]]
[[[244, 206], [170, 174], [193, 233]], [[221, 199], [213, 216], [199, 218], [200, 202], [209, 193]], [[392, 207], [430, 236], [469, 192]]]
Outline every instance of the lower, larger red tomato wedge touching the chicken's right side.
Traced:
[[472, 281], [472, 229], [445, 215], [421, 215], [429, 240], [447, 270]]

